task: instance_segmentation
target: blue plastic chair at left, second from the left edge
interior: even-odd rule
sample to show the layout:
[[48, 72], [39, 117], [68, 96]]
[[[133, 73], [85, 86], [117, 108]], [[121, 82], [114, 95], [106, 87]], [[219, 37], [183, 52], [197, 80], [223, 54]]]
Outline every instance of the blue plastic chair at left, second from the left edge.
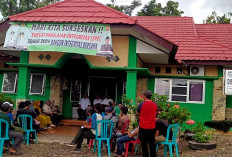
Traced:
[[[28, 122], [28, 120], [30, 122]], [[38, 143], [38, 139], [37, 139], [37, 135], [36, 135], [36, 130], [33, 129], [33, 118], [31, 115], [28, 114], [21, 114], [18, 116], [18, 122], [19, 122], [19, 126], [26, 132], [26, 134], [24, 134], [24, 138], [23, 138], [23, 142], [25, 142], [25, 139], [27, 140], [27, 145], [29, 145], [29, 139], [30, 139], [30, 133], [34, 133], [35, 134], [35, 141], [36, 143]], [[28, 124], [30, 126], [28, 126]]]

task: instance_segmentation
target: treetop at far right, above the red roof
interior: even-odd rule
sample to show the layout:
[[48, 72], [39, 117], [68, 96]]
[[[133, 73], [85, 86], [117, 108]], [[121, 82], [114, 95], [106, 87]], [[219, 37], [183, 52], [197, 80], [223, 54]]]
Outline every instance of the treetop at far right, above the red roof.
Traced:
[[232, 13], [223, 14], [222, 16], [218, 16], [216, 11], [213, 11], [211, 15], [209, 15], [203, 23], [230, 23], [231, 22]]

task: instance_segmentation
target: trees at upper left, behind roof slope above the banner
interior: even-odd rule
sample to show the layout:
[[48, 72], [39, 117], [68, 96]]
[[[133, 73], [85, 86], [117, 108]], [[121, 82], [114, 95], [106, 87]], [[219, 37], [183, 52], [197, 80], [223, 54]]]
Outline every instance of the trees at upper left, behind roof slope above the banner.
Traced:
[[1, 0], [0, 12], [3, 18], [8, 16], [53, 4], [61, 0]]

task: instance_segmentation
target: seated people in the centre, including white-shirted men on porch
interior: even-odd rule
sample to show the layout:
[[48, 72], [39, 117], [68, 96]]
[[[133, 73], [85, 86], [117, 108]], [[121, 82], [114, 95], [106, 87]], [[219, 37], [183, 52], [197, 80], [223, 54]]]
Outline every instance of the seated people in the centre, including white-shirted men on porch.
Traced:
[[[113, 122], [114, 125], [112, 130], [112, 140], [115, 141], [115, 152], [117, 153], [118, 157], [121, 157], [125, 154], [124, 144], [126, 142], [136, 141], [138, 139], [140, 127], [137, 127], [132, 131], [128, 131], [130, 119], [127, 115], [128, 108], [124, 105], [118, 104], [117, 106], [115, 106], [113, 100], [110, 99], [108, 96], [103, 101], [100, 99], [99, 96], [97, 96], [96, 99], [93, 101], [93, 105], [91, 106], [87, 94], [84, 96], [84, 98], [81, 99], [79, 104], [80, 107], [78, 109], [78, 113], [83, 114], [86, 112], [86, 115], [88, 117], [86, 120], [86, 125], [82, 126], [76, 134], [75, 138], [67, 144], [68, 146], [75, 146], [73, 152], [81, 152], [81, 146], [84, 139], [87, 139], [87, 145], [89, 144], [90, 140], [95, 139], [96, 127], [99, 127], [96, 126], [96, 123], [99, 120], [110, 120]], [[83, 104], [85, 104], [85, 107], [83, 107]], [[140, 112], [140, 110], [141, 108], [138, 108], [138, 112]], [[157, 117], [158, 111], [155, 111], [155, 113]], [[154, 118], [153, 121], [155, 121], [155, 132], [153, 135], [156, 139], [156, 142], [165, 141], [167, 128], [169, 126], [168, 123], [159, 118]], [[100, 134], [98, 136], [100, 136]], [[172, 131], [170, 131], [169, 136], [169, 139], [171, 138]], [[106, 142], [102, 142], [102, 149], [104, 151], [107, 151]]]

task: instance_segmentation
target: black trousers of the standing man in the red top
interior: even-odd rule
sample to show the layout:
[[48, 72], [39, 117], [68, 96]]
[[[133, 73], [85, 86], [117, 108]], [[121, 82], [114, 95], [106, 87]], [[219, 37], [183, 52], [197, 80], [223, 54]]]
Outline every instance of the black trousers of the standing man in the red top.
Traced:
[[[143, 157], [155, 157], [155, 129], [139, 128], [139, 139], [142, 145]], [[150, 154], [147, 146], [149, 146]]]

